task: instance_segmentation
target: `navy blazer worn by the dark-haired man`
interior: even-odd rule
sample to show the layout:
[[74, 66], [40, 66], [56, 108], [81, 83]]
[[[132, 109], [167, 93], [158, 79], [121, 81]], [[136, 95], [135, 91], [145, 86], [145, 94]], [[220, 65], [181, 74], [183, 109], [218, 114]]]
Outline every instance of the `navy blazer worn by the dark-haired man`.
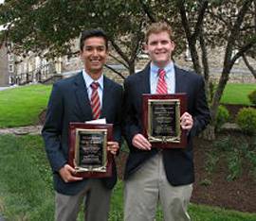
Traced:
[[[120, 143], [122, 87], [103, 76], [103, 95], [101, 118], [108, 124], [114, 124], [114, 141]], [[65, 183], [58, 171], [68, 159], [68, 125], [70, 122], [85, 122], [93, 119], [82, 72], [56, 82], [48, 101], [46, 122], [42, 135], [46, 144], [46, 155], [53, 171], [54, 188], [64, 195], [76, 195], [86, 183], [82, 181]], [[117, 182], [114, 161], [113, 176], [102, 178], [107, 188], [113, 188]]]

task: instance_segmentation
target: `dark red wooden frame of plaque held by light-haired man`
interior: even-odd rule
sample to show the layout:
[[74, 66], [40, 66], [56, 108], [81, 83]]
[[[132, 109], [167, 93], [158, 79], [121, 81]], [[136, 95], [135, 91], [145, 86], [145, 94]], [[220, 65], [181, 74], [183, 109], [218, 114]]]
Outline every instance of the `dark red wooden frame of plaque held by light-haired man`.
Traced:
[[[149, 138], [149, 103], [152, 100], [179, 100], [179, 115], [181, 116], [187, 110], [187, 94], [186, 93], [172, 93], [172, 94], [142, 94], [142, 133]], [[156, 148], [185, 148], [187, 146], [187, 130], [180, 127], [179, 141], [166, 141], [165, 137], [162, 141], [151, 142]]]

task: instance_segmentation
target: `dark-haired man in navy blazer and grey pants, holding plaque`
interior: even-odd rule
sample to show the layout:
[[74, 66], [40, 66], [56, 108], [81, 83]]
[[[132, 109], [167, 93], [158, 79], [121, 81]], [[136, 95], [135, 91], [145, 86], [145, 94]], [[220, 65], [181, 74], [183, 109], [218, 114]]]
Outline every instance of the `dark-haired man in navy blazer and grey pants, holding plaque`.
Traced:
[[115, 162], [111, 178], [75, 177], [74, 168], [67, 163], [68, 125], [70, 122], [84, 123], [93, 120], [91, 83], [98, 82], [101, 118], [114, 125], [114, 141], [108, 142], [107, 148], [112, 154], [116, 154], [121, 139], [122, 87], [102, 75], [108, 54], [108, 40], [103, 31], [83, 31], [80, 47], [84, 69], [78, 75], [53, 85], [42, 131], [56, 191], [55, 219], [76, 220], [83, 201], [84, 220], [107, 221], [111, 191], [117, 182]]

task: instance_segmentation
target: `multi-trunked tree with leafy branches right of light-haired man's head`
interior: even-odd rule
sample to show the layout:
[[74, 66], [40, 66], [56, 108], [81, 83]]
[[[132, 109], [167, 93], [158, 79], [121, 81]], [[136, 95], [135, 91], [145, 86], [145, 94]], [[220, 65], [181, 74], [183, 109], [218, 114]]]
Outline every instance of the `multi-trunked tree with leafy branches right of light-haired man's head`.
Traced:
[[[142, 2], [143, 8], [152, 21], [164, 19], [171, 25], [182, 24], [184, 32], [180, 32], [180, 38], [184, 36], [187, 40], [193, 69], [197, 74], [205, 77], [207, 91], [210, 87], [209, 48], [223, 47], [225, 49], [221, 76], [210, 106], [214, 121], [221, 96], [236, 59], [243, 56], [246, 58], [246, 55], [255, 58], [256, 1], [180, 0], [157, 1], [155, 5], [151, 1]], [[162, 10], [163, 8], [160, 7], [162, 5], [169, 10]], [[155, 8], [160, 8], [160, 10], [157, 11]], [[199, 57], [200, 52], [201, 57]], [[236, 53], [233, 55], [233, 52]], [[250, 70], [253, 69], [250, 68]]]

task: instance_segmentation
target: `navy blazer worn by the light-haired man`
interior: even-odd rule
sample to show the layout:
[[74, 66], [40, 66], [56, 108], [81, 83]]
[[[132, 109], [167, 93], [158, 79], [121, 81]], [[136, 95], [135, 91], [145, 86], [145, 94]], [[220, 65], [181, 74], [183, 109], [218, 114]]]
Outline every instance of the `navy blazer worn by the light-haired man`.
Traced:
[[[174, 66], [174, 73], [175, 93], [187, 93], [187, 111], [192, 114], [193, 118], [193, 127], [188, 134], [187, 146], [184, 149], [163, 149], [167, 179], [172, 185], [178, 186], [194, 181], [192, 136], [200, 132], [210, 122], [210, 110], [205, 95], [203, 77], [176, 66]], [[151, 93], [150, 64], [141, 72], [127, 77], [124, 82], [125, 122], [123, 132], [130, 149], [124, 178], [129, 178], [144, 161], [153, 157], [158, 151], [154, 146], [150, 151], [146, 151], [140, 150], [132, 144], [133, 137], [142, 132], [142, 93]]]

